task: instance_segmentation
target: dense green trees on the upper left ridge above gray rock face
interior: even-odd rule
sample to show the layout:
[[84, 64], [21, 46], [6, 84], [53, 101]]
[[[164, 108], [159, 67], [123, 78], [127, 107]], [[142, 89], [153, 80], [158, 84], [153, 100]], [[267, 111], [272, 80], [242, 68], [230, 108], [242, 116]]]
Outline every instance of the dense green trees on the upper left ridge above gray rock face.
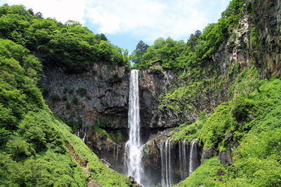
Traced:
[[113, 46], [104, 34], [93, 34], [79, 22], [65, 24], [24, 6], [0, 7], [0, 37], [36, 53], [44, 63], [64, 67], [68, 73], [84, 71], [89, 64], [127, 65], [128, 51]]

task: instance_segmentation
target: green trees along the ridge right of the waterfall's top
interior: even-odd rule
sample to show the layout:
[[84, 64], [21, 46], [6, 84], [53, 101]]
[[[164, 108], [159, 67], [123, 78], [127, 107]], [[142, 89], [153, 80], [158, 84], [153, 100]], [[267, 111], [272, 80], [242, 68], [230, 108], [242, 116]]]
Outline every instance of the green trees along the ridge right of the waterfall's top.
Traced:
[[195, 32], [187, 43], [171, 38], [159, 38], [149, 47], [140, 41], [129, 57], [134, 63], [134, 68], [150, 67], [156, 60], [163, 62], [163, 68], [174, 71], [204, 67], [216, 53], [218, 46], [228, 38], [231, 29], [237, 25], [242, 15], [243, 4], [242, 0], [230, 1], [217, 23], [209, 24], [203, 32]]

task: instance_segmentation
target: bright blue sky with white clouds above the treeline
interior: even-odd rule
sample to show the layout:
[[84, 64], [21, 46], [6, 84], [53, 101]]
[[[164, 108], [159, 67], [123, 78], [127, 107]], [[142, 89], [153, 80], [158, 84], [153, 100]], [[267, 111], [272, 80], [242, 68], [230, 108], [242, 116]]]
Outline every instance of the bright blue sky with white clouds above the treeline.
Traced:
[[229, 0], [0, 0], [3, 4], [22, 4], [63, 23], [79, 21], [132, 52], [141, 40], [149, 46], [159, 37], [186, 42], [190, 34], [217, 22]]

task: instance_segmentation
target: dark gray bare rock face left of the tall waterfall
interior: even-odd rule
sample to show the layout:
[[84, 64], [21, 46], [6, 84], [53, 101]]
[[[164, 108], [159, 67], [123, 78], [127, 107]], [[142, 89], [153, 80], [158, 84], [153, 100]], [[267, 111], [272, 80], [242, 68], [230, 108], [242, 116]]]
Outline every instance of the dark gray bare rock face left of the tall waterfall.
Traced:
[[44, 69], [46, 104], [66, 121], [82, 127], [126, 128], [129, 102], [129, 69], [94, 64], [84, 74]]

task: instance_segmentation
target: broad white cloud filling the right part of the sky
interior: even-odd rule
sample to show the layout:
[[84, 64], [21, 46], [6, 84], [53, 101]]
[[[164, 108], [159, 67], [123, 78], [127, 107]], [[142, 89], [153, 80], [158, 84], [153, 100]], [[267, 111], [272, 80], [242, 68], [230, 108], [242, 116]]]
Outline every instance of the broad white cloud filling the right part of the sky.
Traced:
[[159, 36], [181, 39], [216, 22], [211, 15], [217, 6], [227, 4], [226, 0], [92, 0], [85, 18], [105, 34], [131, 32], [145, 41]]

